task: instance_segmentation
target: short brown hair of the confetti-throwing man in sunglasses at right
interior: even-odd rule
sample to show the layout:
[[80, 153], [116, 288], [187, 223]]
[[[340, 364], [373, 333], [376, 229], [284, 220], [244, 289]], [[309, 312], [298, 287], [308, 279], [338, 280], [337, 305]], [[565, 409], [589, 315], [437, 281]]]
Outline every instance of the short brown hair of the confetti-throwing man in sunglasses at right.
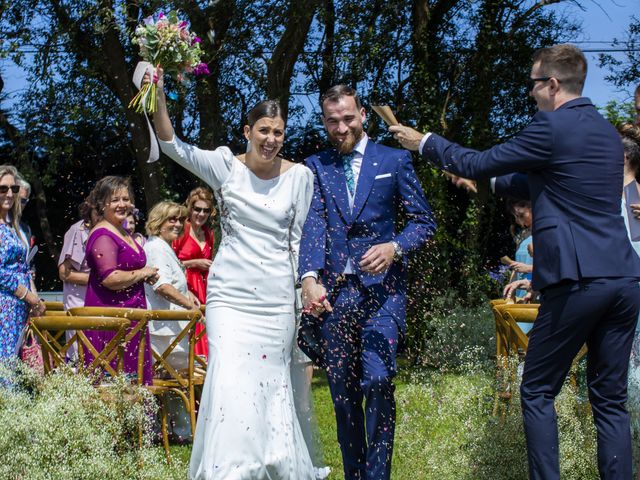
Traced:
[[559, 80], [565, 91], [582, 94], [587, 77], [587, 59], [578, 47], [565, 43], [540, 48], [533, 54], [533, 63], [538, 62], [541, 72]]

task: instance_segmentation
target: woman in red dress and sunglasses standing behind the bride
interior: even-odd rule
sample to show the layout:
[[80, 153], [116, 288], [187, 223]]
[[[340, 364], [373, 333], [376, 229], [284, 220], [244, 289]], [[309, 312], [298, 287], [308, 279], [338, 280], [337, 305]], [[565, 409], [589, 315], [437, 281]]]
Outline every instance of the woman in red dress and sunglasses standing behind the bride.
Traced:
[[[192, 190], [185, 205], [189, 209], [189, 219], [185, 222], [184, 232], [173, 241], [172, 247], [178, 259], [186, 267], [187, 285], [202, 305], [207, 303], [207, 275], [213, 258], [214, 235], [206, 226], [215, 215], [213, 194], [206, 188]], [[196, 334], [204, 325], [196, 325]], [[205, 334], [195, 346], [196, 355], [208, 358], [209, 346]]]

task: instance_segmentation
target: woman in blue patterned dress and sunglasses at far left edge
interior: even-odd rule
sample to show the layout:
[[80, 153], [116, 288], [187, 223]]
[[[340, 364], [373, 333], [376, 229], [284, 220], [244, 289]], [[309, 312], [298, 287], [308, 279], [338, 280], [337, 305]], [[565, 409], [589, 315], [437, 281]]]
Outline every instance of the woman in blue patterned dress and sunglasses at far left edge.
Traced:
[[27, 264], [27, 244], [20, 232], [20, 185], [11, 165], [0, 166], [0, 363], [17, 358], [27, 317], [42, 315]]

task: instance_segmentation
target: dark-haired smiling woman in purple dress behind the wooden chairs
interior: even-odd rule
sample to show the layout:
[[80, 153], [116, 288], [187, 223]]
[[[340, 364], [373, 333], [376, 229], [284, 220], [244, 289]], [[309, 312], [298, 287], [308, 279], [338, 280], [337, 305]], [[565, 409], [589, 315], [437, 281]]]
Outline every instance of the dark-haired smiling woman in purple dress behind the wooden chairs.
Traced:
[[[142, 247], [129, 235], [122, 224], [132, 208], [133, 192], [128, 179], [108, 176], [98, 181], [93, 196], [101, 220], [87, 240], [87, 266], [90, 269], [85, 307], [146, 308], [144, 282], [158, 280], [158, 269], [146, 267], [147, 258]], [[134, 324], [132, 324], [133, 328]], [[100, 351], [113, 332], [88, 332], [87, 337]], [[151, 347], [147, 332], [143, 384], [151, 382]], [[140, 334], [125, 347], [124, 371], [138, 371]], [[86, 361], [93, 358], [87, 357]], [[115, 362], [114, 362], [115, 363]]]

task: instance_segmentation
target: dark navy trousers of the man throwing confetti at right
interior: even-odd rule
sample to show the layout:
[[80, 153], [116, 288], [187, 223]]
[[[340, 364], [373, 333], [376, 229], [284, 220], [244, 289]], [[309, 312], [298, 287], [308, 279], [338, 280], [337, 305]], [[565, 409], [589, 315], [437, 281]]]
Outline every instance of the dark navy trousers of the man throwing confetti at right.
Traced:
[[627, 374], [639, 310], [633, 278], [585, 279], [544, 290], [520, 387], [531, 479], [560, 478], [554, 399], [584, 343], [600, 477], [631, 479]]

